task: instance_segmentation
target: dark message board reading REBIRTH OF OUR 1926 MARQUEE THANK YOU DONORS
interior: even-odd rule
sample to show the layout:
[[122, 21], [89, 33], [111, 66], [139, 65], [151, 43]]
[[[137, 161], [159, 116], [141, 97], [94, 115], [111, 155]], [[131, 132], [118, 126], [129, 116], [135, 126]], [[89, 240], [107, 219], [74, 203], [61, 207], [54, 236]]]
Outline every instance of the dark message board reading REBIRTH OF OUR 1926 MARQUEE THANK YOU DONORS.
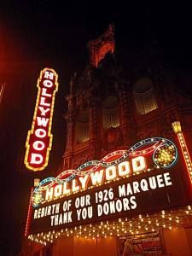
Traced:
[[32, 208], [30, 233], [94, 224], [189, 203], [179, 170], [155, 170]]

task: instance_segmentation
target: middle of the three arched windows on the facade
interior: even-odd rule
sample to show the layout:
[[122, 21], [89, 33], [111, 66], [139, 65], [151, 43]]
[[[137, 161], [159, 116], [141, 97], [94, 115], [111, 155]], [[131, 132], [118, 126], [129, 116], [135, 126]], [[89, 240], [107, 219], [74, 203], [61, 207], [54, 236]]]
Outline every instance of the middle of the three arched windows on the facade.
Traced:
[[108, 96], [102, 102], [102, 124], [105, 130], [119, 126], [118, 102], [115, 96]]

